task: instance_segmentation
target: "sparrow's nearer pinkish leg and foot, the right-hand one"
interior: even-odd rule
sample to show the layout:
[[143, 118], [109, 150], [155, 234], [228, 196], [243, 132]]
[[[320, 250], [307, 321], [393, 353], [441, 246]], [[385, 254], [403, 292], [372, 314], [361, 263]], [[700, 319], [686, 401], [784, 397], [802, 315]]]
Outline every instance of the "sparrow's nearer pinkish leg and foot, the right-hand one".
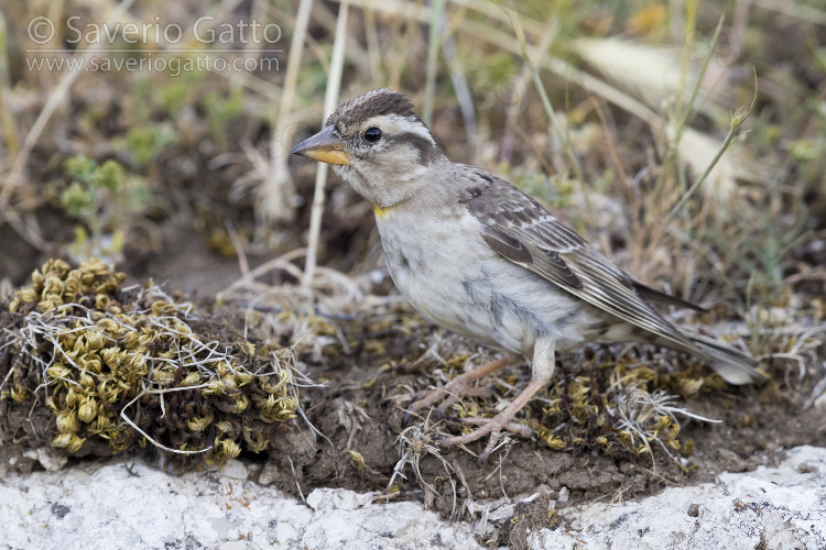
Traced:
[[528, 427], [522, 427], [525, 429], [517, 428], [511, 424], [511, 420], [513, 420], [513, 417], [517, 415], [517, 413], [519, 413], [522, 407], [524, 407], [528, 402], [531, 400], [531, 397], [533, 397], [536, 392], [545, 387], [548, 382], [551, 382], [551, 377], [554, 375], [554, 367], [556, 366], [554, 354], [555, 345], [555, 341], [547, 338], [536, 340], [533, 349], [533, 376], [531, 377], [531, 382], [528, 383], [528, 386], [525, 386], [525, 388], [511, 402], [510, 405], [508, 405], [504, 410], [490, 419], [476, 419], [474, 424], [480, 424], [481, 421], [483, 421], [485, 425], [481, 428], [471, 431], [467, 436], [443, 438], [439, 443], [443, 446], [465, 444], [471, 441], [476, 441], [477, 439], [482, 438], [485, 435], [490, 433], [490, 441], [488, 441], [485, 451], [479, 455], [479, 462], [482, 462], [496, 448], [503, 429], [517, 431], [523, 436], [526, 432], [530, 432], [530, 429], [528, 429]]

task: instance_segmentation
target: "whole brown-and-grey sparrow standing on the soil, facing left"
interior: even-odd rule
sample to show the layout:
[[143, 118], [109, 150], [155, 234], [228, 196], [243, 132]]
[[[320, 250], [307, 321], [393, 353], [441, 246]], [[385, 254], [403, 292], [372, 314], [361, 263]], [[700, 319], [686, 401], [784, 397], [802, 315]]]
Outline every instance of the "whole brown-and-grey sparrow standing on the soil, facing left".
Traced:
[[[677, 329], [651, 302], [696, 306], [637, 282], [509, 183], [447, 160], [401, 94], [347, 101], [291, 153], [332, 164], [372, 205], [390, 275], [423, 317], [531, 363], [531, 381], [504, 410], [443, 444], [489, 433], [483, 460], [502, 429], [530, 433], [515, 414], [551, 381], [555, 351], [586, 341], [649, 342], [700, 358], [731, 384], [761, 380], [751, 356]], [[442, 402], [444, 411], [509, 363], [479, 366], [409, 409]]]

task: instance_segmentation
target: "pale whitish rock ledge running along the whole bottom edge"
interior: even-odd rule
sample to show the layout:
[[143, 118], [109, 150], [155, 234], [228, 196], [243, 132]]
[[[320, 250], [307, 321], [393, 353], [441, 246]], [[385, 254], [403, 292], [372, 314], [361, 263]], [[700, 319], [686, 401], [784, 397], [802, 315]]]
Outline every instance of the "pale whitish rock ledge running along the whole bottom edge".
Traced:
[[[445, 521], [420, 503], [346, 490], [314, 490], [304, 504], [248, 474], [237, 461], [215, 473], [170, 475], [123, 459], [7, 472], [0, 549], [478, 549], [492, 516], [508, 520], [504, 512], [539, 495], [474, 503], [474, 526]], [[563, 487], [558, 501], [567, 497]], [[800, 447], [778, 468], [637, 502], [569, 505], [559, 516], [570, 529], [531, 534], [532, 548], [824, 549], [826, 449]]]

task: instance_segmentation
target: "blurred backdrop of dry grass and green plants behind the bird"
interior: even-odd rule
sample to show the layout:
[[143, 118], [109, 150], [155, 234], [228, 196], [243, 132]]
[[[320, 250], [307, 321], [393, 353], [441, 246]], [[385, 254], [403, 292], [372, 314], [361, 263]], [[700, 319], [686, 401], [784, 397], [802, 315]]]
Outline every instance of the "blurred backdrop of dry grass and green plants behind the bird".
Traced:
[[[338, 41], [340, 101], [409, 95], [452, 160], [644, 282], [822, 315], [823, 1], [0, 6], [7, 294], [46, 257], [96, 255], [209, 296], [239, 257], [306, 246], [318, 168], [286, 152], [323, 123]], [[381, 270], [368, 206], [334, 175], [326, 191], [318, 263]], [[298, 282], [293, 257], [271, 283]]]

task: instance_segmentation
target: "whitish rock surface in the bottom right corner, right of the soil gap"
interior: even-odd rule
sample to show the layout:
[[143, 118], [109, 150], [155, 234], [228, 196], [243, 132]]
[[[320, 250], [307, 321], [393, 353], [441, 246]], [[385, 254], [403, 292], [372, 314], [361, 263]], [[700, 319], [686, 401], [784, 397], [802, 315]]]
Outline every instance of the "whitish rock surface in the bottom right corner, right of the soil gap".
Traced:
[[819, 550], [826, 548], [826, 449], [798, 447], [779, 468], [726, 473], [718, 484], [574, 506], [561, 515], [572, 529], [532, 534], [533, 548]]

